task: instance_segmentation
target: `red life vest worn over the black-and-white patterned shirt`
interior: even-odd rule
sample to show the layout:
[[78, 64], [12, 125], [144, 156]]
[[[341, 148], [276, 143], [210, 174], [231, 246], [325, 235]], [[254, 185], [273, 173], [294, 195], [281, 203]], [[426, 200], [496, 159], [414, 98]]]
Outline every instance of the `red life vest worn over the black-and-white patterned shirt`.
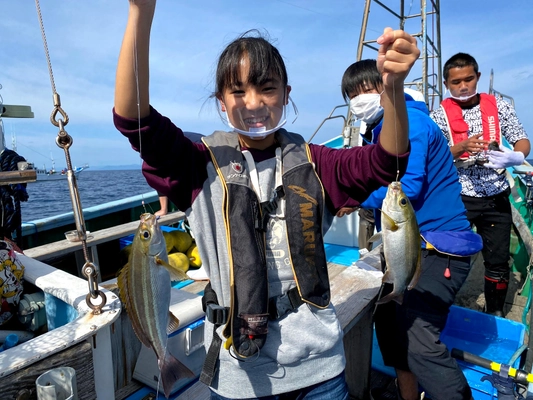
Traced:
[[[461, 105], [454, 99], [447, 98], [441, 102], [440, 106], [444, 111], [444, 117], [448, 125], [448, 132], [450, 132], [452, 146], [468, 139], [470, 128], [463, 119], [463, 109], [461, 108]], [[498, 145], [500, 145], [501, 131], [496, 97], [486, 93], [480, 93], [479, 107], [483, 127], [483, 140], [497, 142]], [[465, 152], [459, 158], [467, 159], [469, 158], [469, 154]]]

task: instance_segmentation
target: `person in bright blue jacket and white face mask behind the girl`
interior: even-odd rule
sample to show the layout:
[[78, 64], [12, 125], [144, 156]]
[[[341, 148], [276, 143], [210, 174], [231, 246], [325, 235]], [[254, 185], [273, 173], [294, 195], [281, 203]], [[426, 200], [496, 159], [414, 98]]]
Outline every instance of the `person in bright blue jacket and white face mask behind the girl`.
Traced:
[[[350, 65], [342, 77], [341, 90], [353, 115], [369, 127], [368, 140], [372, 145], [365, 147], [373, 147], [383, 134], [379, 101], [383, 82], [376, 60]], [[455, 295], [470, 271], [470, 256], [481, 249], [481, 238], [472, 232], [466, 218], [461, 185], [446, 140], [429, 118], [426, 104], [404, 95], [403, 90], [401, 94], [407, 105], [411, 153], [400, 181], [422, 236], [421, 275], [414, 288], [395, 301], [377, 306], [376, 336], [385, 365], [396, 370], [395, 396], [405, 400], [420, 398], [420, 383], [433, 400], [470, 400], [468, 382], [439, 336]], [[381, 187], [361, 204], [377, 211], [378, 231], [379, 209], [386, 193], [387, 187]], [[394, 265], [389, 267], [394, 269]], [[391, 289], [392, 284], [384, 284], [381, 297]], [[390, 393], [379, 388], [371, 394], [374, 400], [390, 398]]]

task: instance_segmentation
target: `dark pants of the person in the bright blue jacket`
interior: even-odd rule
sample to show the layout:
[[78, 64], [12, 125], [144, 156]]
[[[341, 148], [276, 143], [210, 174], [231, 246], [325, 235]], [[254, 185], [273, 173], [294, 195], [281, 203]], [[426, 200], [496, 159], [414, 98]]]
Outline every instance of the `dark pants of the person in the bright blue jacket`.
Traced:
[[[451, 276], [444, 276], [449, 268]], [[440, 334], [450, 306], [470, 271], [470, 257], [422, 251], [422, 274], [406, 290], [403, 304], [379, 305], [374, 315], [376, 336], [385, 365], [411, 371], [433, 400], [470, 400], [468, 382]], [[382, 297], [390, 292], [387, 284]]]

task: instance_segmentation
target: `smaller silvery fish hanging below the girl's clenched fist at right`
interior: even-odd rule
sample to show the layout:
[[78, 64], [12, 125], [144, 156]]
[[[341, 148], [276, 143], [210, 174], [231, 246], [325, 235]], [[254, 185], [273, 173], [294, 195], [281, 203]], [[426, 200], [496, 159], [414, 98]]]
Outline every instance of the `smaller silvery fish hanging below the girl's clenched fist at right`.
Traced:
[[415, 212], [400, 182], [392, 182], [381, 208], [381, 237], [387, 269], [383, 283], [392, 283], [391, 293], [377, 304], [403, 302], [405, 289], [415, 287], [421, 272], [421, 239]]

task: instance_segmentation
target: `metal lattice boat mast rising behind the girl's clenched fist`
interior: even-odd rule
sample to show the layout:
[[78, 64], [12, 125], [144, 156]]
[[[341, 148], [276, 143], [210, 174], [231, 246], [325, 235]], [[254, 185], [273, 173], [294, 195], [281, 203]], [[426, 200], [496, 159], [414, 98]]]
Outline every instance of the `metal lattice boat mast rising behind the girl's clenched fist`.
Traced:
[[[413, 67], [411, 74], [420, 76], [406, 81], [405, 86], [418, 90], [424, 96], [428, 108], [432, 110], [438, 107], [442, 101], [442, 65], [441, 65], [441, 41], [440, 41], [440, 0], [420, 0], [420, 9], [412, 12], [413, 2], [406, 7], [405, 0], [399, 1], [399, 7], [387, 6], [383, 1], [366, 0], [363, 12], [363, 22], [361, 24], [361, 34], [359, 35], [359, 45], [357, 47], [357, 61], [363, 59], [365, 50], [377, 52], [375, 29], [368, 33], [370, 9], [373, 3], [379, 6], [375, 14], [382, 21], [383, 14], [392, 16], [396, 20], [399, 29], [406, 29], [409, 23], [409, 33], [416, 37], [418, 45], [421, 47], [418, 66]], [[392, 1], [389, 1], [392, 3]], [[376, 22], [377, 24], [377, 22]], [[374, 24], [374, 26], [376, 25]], [[381, 25], [383, 22], [381, 22]], [[381, 27], [382, 28], [382, 27]], [[419, 30], [418, 30], [419, 29]], [[418, 30], [418, 31], [413, 31]], [[367, 37], [372, 37], [368, 39]], [[368, 56], [370, 58], [370, 56]], [[372, 58], [375, 58], [373, 55]]]

